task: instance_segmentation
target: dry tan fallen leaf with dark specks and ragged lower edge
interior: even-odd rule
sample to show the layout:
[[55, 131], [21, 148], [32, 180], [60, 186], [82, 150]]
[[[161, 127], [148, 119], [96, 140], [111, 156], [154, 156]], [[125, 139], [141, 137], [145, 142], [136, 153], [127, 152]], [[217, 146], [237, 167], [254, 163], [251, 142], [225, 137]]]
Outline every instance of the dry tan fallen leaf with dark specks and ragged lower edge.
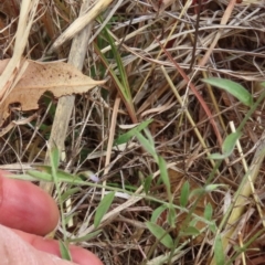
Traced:
[[[9, 60], [0, 61], [0, 74], [2, 74]], [[67, 63], [36, 63], [33, 61], [28, 61], [28, 63], [22, 77], [0, 105], [0, 126], [10, 114], [10, 104], [20, 103], [23, 112], [38, 109], [38, 100], [46, 91], [57, 98], [86, 93], [105, 83], [105, 81], [92, 80]]]

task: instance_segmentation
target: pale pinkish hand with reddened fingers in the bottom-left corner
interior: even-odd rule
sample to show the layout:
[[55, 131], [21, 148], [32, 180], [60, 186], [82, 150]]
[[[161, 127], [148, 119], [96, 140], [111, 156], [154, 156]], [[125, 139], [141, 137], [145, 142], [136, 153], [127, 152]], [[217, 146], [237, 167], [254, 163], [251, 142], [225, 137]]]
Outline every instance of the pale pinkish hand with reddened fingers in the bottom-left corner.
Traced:
[[39, 187], [0, 171], [0, 257], [3, 265], [103, 265], [91, 252], [71, 245], [73, 262], [61, 259], [59, 242], [44, 236], [59, 222], [53, 199]]

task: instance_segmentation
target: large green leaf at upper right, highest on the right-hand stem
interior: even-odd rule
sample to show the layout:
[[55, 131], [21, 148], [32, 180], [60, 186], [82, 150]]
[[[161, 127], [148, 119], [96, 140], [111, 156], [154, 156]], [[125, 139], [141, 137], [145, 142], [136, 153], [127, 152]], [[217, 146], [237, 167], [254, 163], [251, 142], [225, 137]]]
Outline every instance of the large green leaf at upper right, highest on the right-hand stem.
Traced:
[[253, 105], [253, 97], [250, 94], [248, 91], [246, 91], [241, 84], [235, 83], [230, 80], [224, 80], [224, 78], [216, 78], [216, 77], [211, 77], [206, 80], [202, 80], [203, 82], [216, 86], [221, 89], [224, 89], [229, 92], [231, 95], [236, 97], [240, 102], [245, 104], [246, 106], [252, 106]]

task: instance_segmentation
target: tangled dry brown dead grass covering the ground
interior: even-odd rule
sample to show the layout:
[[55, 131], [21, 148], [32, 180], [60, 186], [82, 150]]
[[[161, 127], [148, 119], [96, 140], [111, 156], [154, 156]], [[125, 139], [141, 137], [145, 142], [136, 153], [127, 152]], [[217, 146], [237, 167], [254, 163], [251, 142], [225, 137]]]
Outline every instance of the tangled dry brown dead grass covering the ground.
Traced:
[[[161, 2], [158, 8], [155, 4], [157, 2]], [[65, 140], [65, 159], [62, 160], [61, 168], [72, 173], [85, 171], [85, 174], [91, 170], [107, 187], [124, 189], [117, 193], [100, 226], [102, 233], [91, 241], [78, 242], [97, 253], [105, 264], [166, 264], [170, 251], [156, 242], [145, 223], [161, 205], [160, 202], [167, 201], [157, 163], [144, 151], [137, 139], [118, 149], [112, 149], [113, 139], [128, 130], [131, 118], [126, 104], [117, 99], [119, 95], [115, 81], [103, 64], [104, 55], [119, 77], [117, 61], [102, 29], [107, 24], [109, 34], [116, 41], [138, 123], [153, 119], [149, 130], [156, 142], [157, 153], [167, 161], [171, 192], [174, 194], [176, 205], [179, 205], [183, 182], [188, 180], [191, 189], [203, 187], [215, 163], [206, 155], [221, 150], [224, 138], [231, 132], [229, 123], [233, 121], [239, 127], [247, 112], [231, 95], [206, 86], [201, 78], [214, 76], [233, 80], [246, 87], [254, 97], [261, 93], [259, 84], [264, 82], [265, 2], [243, 0], [234, 3], [234, 7], [232, 2], [204, 1], [199, 29], [195, 29], [198, 7], [180, 0], [113, 1], [102, 12], [104, 24], [99, 19], [92, 22], [93, 33], [83, 72], [95, 80], [107, 78], [108, 82], [104, 87], [106, 89], [98, 87], [89, 94], [76, 97]], [[40, 61], [66, 60], [71, 41], [63, 39], [62, 45], [56, 49], [52, 44], [59, 36], [61, 40], [65, 36], [64, 30], [75, 23], [80, 8], [81, 1], [41, 1], [24, 55]], [[13, 55], [19, 14], [17, 1], [0, 1], [1, 59]], [[211, 46], [214, 40], [216, 44]], [[96, 53], [96, 46], [103, 55]], [[194, 47], [195, 60], [190, 70]], [[1, 137], [1, 168], [21, 172], [29, 166], [43, 163], [55, 106], [56, 99], [43, 97], [34, 123], [18, 124]], [[18, 120], [30, 115], [22, 114], [17, 107], [11, 108], [11, 113], [6, 126], [11, 119]], [[210, 203], [213, 220], [218, 225], [221, 223], [245, 170], [255, 162], [253, 155], [262, 142], [264, 116], [262, 104], [243, 129], [240, 145], [246, 168], [243, 167], [242, 156], [236, 149], [221, 163], [211, 182], [224, 183], [226, 188], [220, 188], [201, 198], [193, 210], [194, 214], [203, 216], [204, 208]], [[264, 170], [262, 162], [254, 183], [262, 208]], [[142, 179], [150, 174], [153, 176], [150, 192], [142, 198]], [[71, 186], [62, 184], [62, 191], [70, 188]], [[73, 224], [68, 227], [67, 236], [74, 239], [93, 232], [94, 211], [105, 190], [78, 188], [71, 195], [72, 208], [68, 212], [73, 214]], [[127, 191], [135, 194], [128, 194]], [[56, 198], [56, 193], [54, 197]], [[187, 210], [194, 202], [190, 200], [189, 203]], [[169, 227], [166, 214], [161, 214], [157, 221], [163, 229]], [[186, 216], [183, 211], [177, 211], [177, 229], [170, 234], [173, 239], [179, 239], [179, 244], [176, 246], [177, 251], [172, 252], [171, 264], [214, 264], [212, 244], [215, 234], [202, 224], [197, 227], [205, 231], [194, 239], [179, 235], [184, 230]], [[234, 231], [229, 240], [226, 262], [239, 253], [235, 246], [242, 246], [264, 229], [263, 218], [263, 211], [258, 214], [256, 202], [250, 197], [237, 224], [240, 231]], [[225, 226], [223, 231], [224, 229]], [[61, 233], [62, 230], [59, 229], [57, 236]], [[255, 239], [243, 255], [235, 257], [233, 264], [244, 264], [244, 258], [245, 264], [264, 263], [263, 235]]]

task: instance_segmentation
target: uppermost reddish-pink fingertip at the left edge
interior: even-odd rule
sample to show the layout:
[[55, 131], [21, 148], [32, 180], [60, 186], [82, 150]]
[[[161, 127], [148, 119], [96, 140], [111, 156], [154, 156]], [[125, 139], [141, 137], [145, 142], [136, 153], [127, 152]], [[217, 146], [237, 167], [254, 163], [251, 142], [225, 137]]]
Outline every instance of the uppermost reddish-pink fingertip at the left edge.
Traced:
[[54, 200], [31, 182], [6, 178], [0, 171], [0, 224], [45, 235], [59, 222]]

